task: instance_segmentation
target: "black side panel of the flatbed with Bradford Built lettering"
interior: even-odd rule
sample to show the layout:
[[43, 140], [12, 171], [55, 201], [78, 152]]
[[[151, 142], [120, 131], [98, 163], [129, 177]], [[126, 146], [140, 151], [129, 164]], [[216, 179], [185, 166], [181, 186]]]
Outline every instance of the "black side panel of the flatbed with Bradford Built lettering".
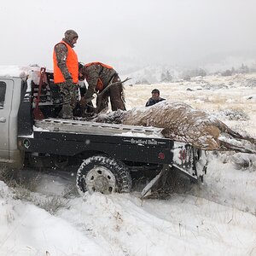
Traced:
[[20, 145], [26, 152], [45, 154], [74, 156], [84, 151], [99, 151], [119, 160], [159, 164], [171, 164], [173, 159], [173, 142], [167, 139], [50, 133], [20, 137]]

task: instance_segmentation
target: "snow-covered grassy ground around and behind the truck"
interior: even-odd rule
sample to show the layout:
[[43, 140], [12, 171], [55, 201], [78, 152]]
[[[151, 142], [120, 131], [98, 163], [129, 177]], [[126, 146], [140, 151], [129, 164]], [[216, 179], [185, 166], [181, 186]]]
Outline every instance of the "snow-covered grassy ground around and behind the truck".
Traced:
[[[158, 88], [256, 137], [256, 74], [125, 87], [128, 109]], [[0, 181], [0, 255], [256, 255], [255, 155], [209, 154], [201, 187], [184, 180], [166, 200], [81, 198], [73, 174], [24, 170], [29, 189]]]

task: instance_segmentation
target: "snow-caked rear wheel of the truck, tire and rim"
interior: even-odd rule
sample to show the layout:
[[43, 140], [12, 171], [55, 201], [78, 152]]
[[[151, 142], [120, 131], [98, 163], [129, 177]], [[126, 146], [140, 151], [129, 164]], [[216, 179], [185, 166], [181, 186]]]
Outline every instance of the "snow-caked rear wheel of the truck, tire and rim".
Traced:
[[83, 161], [77, 173], [80, 195], [100, 192], [127, 193], [131, 191], [131, 175], [125, 164], [104, 155], [94, 155]]

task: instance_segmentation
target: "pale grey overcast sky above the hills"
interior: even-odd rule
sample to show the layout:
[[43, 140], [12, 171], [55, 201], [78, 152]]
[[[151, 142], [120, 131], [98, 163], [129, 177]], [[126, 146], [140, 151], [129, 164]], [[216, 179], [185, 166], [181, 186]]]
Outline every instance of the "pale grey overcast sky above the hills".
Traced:
[[114, 67], [200, 65], [256, 52], [255, 0], [2, 0], [0, 65], [52, 68], [67, 29], [79, 61]]

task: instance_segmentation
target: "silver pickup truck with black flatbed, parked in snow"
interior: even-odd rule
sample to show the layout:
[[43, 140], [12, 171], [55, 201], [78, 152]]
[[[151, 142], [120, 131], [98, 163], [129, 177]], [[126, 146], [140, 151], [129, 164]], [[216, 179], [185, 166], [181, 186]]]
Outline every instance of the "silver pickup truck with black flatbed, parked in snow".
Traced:
[[73, 166], [82, 195], [129, 192], [131, 172], [177, 169], [194, 181], [206, 172], [200, 149], [163, 137], [160, 128], [57, 119], [56, 91], [45, 68], [0, 70], [1, 166]]

